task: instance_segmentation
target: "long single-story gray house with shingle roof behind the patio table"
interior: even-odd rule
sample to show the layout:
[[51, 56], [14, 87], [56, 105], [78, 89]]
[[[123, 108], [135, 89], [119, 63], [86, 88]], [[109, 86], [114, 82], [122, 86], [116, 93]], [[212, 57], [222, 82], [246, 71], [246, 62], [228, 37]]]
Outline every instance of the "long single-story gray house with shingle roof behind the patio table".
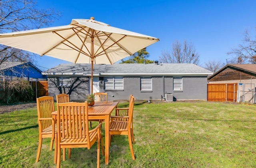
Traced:
[[[91, 64], [60, 64], [42, 72], [48, 78], [48, 94], [70, 94], [71, 101], [84, 101], [90, 93]], [[94, 92], [108, 93], [108, 100], [207, 100], [207, 76], [195, 64], [94, 64]]]

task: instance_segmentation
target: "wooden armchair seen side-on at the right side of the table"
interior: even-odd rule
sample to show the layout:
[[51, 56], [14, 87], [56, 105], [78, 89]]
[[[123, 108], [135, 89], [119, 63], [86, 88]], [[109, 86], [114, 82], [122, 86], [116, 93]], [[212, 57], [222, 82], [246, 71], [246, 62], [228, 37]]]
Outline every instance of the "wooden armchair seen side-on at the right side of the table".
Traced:
[[[133, 118], [133, 107], [134, 107], [134, 96], [131, 97], [128, 109], [128, 116], [110, 116], [110, 144], [111, 144], [111, 136], [112, 135], [128, 135], [128, 142], [130, 146], [130, 151], [132, 154], [132, 159], [135, 160], [134, 151], [132, 148], [132, 141], [134, 142], [133, 135], [133, 126], [132, 126], [132, 118]], [[119, 118], [119, 120], [116, 120]], [[127, 121], [125, 120], [127, 119]], [[110, 145], [109, 144], [109, 145]]]

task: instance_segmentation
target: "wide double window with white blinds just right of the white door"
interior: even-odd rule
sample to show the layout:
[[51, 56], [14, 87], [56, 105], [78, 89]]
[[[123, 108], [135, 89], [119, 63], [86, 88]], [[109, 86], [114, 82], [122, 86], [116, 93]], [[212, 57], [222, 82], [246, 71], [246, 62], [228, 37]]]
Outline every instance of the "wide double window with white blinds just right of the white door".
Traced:
[[123, 77], [104, 77], [105, 90], [124, 90]]

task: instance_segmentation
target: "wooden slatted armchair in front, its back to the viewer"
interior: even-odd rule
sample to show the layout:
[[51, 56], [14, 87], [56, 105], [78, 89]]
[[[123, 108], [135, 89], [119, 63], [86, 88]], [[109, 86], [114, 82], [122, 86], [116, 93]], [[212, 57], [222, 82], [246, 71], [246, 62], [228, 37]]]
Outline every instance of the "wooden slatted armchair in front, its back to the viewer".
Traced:
[[[101, 133], [101, 123], [92, 130], [88, 128], [88, 103], [68, 102], [57, 104], [57, 168], [60, 168], [61, 148], [88, 148], [97, 141], [97, 167], [100, 167], [100, 143], [102, 154], [104, 146]], [[62, 124], [61, 122], [62, 121]], [[68, 158], [71, 150], [68, 150]]]

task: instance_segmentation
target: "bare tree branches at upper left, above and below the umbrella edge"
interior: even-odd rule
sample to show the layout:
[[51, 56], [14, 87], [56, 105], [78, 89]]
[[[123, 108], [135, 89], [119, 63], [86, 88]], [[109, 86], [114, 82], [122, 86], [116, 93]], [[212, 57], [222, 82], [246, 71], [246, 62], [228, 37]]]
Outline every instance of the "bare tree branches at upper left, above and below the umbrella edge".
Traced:
[[[0, 33], [38, 29], [60, 17], [54, 9], [40, 9], [33, 0], [0, 0]], [[4, 61], [33, 61], [32, 55], [0, 45], [0, 64]]]

